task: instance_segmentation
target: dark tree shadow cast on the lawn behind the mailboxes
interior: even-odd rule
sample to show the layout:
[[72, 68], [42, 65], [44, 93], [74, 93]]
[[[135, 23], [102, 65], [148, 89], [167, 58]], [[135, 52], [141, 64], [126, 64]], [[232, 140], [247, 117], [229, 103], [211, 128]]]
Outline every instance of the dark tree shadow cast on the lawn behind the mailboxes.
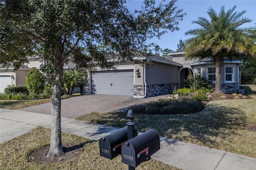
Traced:
[[[122, 128], [127, 123], [126, 115], [124, 112], [91, 113], [85, 117], [89, 122]], [[246, 125], [246, 116], [236, 107], [210, 104], [199, 113], [186, 115], [135, 115], [134, 122], [138, 132], [154, 128], [160, 136], [188, 142], [197, 140], [209, 146], [218, 145], [216, 137], [232, 140], [231, 136], [238, 135], [236, 130]], [[102, 130], [106, 127], [98, 128], [95, 134]]]

